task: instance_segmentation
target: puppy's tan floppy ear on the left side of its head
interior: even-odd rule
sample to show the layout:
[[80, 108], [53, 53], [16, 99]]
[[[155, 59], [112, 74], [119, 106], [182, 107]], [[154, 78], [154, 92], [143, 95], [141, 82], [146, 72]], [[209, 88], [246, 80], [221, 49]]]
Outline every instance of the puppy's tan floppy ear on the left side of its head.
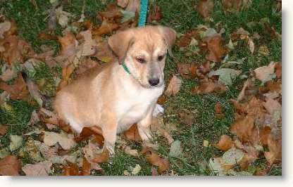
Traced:
[[112, 51], [118, 56], [119, 63], [123, 63], [129, 46], [133, 44], [133, 32], [132, 30], [126, 30], [113, 34], [108, 38], [108, 45]]

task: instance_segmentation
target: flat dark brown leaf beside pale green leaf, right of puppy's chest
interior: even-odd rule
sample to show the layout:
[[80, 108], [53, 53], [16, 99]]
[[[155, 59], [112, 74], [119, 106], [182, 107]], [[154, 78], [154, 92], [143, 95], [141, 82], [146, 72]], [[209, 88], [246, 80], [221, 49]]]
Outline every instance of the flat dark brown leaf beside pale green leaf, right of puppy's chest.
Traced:
[[192, 89], [192, 94], [216, 93], [227, 90], [227, 86], [220, 84], [219, 82], [213, 82], [209, 79], [208, 81], [202, 82], [199, 86]]

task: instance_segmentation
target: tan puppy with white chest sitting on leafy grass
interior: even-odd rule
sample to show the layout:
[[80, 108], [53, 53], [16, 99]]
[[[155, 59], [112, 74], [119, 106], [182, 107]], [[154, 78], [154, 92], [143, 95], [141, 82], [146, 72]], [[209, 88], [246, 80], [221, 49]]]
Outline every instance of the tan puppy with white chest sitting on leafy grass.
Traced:
[[[116, 134], [137, 123], [143, 141], [158, 97], [163, 93], [166, 53], [175, 31], [146, 26], [118, 32], [108, 44], [118, 56], [102, 70], [92, 70], [57, 93], [54, 109], [61, 120], [80, 133], [83, 127], [101, 127], [104, 148], [114, 153]], [[125, 63], [128, 74], [121, 63]]]

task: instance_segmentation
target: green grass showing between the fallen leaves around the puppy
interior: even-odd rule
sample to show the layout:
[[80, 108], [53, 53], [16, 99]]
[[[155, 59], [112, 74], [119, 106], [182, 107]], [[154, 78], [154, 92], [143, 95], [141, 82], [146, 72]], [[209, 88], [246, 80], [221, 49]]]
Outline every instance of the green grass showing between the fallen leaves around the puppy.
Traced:
[[[14, 19], [18, 25], [19, 34], [29, 41], [35, 51], [40, 52], [42, 44], [49, 44], [54, 46], [58, 51], [58, 43], [56, 41], [40, 41], [37, 38], [39, 32], [47, 30], [48, 13], [51, 8], [49, 1], [37, 0], [37, 7], [32, 4], [32, 1], [4, 1], [1, 3], [0, 9], [4, 8], [4, 15], [9, 19]], [[103, 11], [106, 4], [96, 0], [69, 0], [64, 1], [64, 11], [73, 14], [73, 20], [79, 20], [84, 8], [85, 17], [99, 25], [100, 21], [96, 18], [96, 13]], [[156, 4], [161, 8], [163, 19], [158, 22], [161, 25], [173, 27], [178, 33], [185, 33], [192, 30], [197, 25], [206, 25], [213, 27], [216, 30], [220, 28], [225, 29], [223, 38], [227, 43], [230, 39], [230, 34], [235, 32], [239, 27], [243, 27], [251, 34], [257, 32], [261, 39], [256, 41], [256, 49], [258, 46], [266, 45], [270, 53], [265, 56], [258, 53], [256, 50], [253, 54], [250, 53], [247, 44], [239, 41], [237, 47], [229, 53], [230, 60], [243, 59], [244, 63], [239, 66], [239, 69], [244, 74], [249, 75], [250, 70], [267, 65], [270, 61], [282, 60], [282, 41], [280, 39], [270, 39], [270, 34], [266, 32], [262, 22], [268, 20], [268, 24], [275, 27], [275, 30], [282, 34], [282, 18], [280, 13], [275, 13], [275, 4], [273, 1], [255, 0], [252, 1], [251, 6], [247, 10], [240, 13], [230, 13], [225, 15], [223, 6], [220, 1], [216, 1], [215, 8], [212, 13], [213, 20], [205, 21], [201, 15], [195, 11], [198, 4], [196, 1], [163, 1], [154, 0], [152, 4]], [[57, 27], [54, 31], [56, 35], [61, 35], [61, 27]], [[177, 46], [173, 49], [174, 58], [168, 58], [167, 67], [165, 71], [166, 84], [168, 79], [174, 73], [177, 73], [178, 62], [180, 63], [204, 63], [206, 61], [204, 55], [199, 56], [185, 56], [185, 51], [180, 51]], [[42, 66], [37, 71], [33, 79], [51, 79], [53, 77], [49, 67]], [[180, 92], [175, 96], [169, 96], [163, 107], [166, 109], [164, 120], [166, 123], [173, 123], [177, 126], [177, 131], [173, 131], [173, 138], [180, 140], [183, 148], [183, 155], [180, 158], [170, 157], [170, 171], [177, 175], [213, 175], [213, 173], [206, 167], [210, 157], [217, 157], [223, 153], [213, 146], [204, 147], [203, 141], [209, 143], [216, 143], [222, 134], [230, 134], [229, 127], [234, 122], [234, 108], [229, 103], [230, 98], [236, 98], [239, 93], [241, 79], [234, 80], [229, 91], [221, 94], [208, 95], [192, 95], [190, 90], [197, 84], [192, 80], [182, 79], [183, 84]], [[241, 85], [241, 84], [240, 84]], [[54, 96], [55, 91], [51, 93]], [[214, 105], [220, 102], [223, 105], [224, 116], [218, 120]], [[36, 106], [30, 105], [25, 101], [11, 101], [9, 103], [13, 112], [6, 112], [4, 109], [0, 110], [0, 124], [9, 125], [9, 132], [6, 136], [0, 138], [1, 147], [8, 145], [9, 134], [23, 134], [27, 127], [25, 127], [30, 114]], [[187, 125], [182, 122], [179, 117], [179, 112], [185, 110], [195, 114], [196, 120], [194, 124]], [[159, 153], [168, 156], [168, 144], [158, 138], [160, 143]], [[0, 148], [1, 148], [0, 147]], [[150, 175], [151, 166], [144, 160], [143, 157], [135, 158], [124, 153], [118, 153], [113, 159], [112, 164], [103, 164], [106, 175], [123, 175], [125, 170], [130, 170], [135, 165], [139, 164], [142, 167], [142, 172], [139, 174]], [[270, 175], [281, 175], [282, 167], [273, 167], [269, 173]]]

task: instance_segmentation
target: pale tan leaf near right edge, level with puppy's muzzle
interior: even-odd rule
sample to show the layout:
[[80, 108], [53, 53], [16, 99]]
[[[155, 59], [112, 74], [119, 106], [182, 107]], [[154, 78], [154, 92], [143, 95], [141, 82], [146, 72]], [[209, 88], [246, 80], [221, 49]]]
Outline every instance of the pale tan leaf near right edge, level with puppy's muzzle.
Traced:
[[261, 82], [268, 82], [273, 79], [275, 63], [272, 62], [267, 66], [258, 67], [254, 70], [254, 72], [256, 74], [256, 78], [261, 80]]

